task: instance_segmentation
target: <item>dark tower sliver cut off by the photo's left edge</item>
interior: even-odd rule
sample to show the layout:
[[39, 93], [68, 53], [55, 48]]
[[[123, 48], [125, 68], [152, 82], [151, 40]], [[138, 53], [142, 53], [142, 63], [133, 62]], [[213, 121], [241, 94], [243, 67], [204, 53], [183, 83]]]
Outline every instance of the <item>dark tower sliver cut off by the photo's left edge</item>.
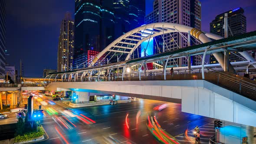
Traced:
[[5, 0], [0, 0], [0, 75], [5, 73], [5, 52], [6, 52], [6, 11]]

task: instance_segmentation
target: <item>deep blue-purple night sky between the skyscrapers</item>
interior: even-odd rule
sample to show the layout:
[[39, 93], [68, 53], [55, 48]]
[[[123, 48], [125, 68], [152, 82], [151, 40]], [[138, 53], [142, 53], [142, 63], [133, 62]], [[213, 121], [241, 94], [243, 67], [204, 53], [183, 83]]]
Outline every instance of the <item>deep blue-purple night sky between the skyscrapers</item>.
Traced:
[[[43, 69], [57, 69], [59, 27], [66, 11], [74, 14], [75, 0], [7, 0], [7, 63], [25, 76], [43, 76]], [[200, 0], [202, 30], [209, 32], [209, 23], [216, 15], [242, 7], [247, 32], [256, 30], [255, 0]], [[153, 0], [146, 0], [146, 14], [152, 11]]]

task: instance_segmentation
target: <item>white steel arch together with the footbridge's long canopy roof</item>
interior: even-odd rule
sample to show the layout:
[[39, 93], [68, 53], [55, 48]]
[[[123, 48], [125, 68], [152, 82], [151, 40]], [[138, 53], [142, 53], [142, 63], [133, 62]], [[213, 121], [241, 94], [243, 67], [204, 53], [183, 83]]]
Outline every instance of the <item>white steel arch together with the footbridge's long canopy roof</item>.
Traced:
[[[204, 44], [197, 45], [197, 46], [189, 46], [186, 48], [180, 48], [174, 51], [163, 52], [153, 56], [146, 56], [139, 59], [131, 59], [131, 55], [133, 54], [133, 52], [135, 52], [138, 46], [141, 45], [142, 42], [148, 39], [154, 38], [155, 36], [162, 36], [163, 38], [163, 35], [170, 35], [173, 38], [172, 33], [180, 34], [182, 38], [185, 39], [187, 42], [190, 41], [189, 39], [191, 36], [191, 37], [194, 37], [194, 39], [196, 39], [198, 42], [202, 42]], [[188, 33], [188, 37], [184, 36], [183, 33]], [[216, 39], [216, 40], [211, 42], [212, 41], [211, 39]], [[163, 42], [166, 45], [164, 39], [163, 39]], [[202, 60], [202, 67], [204, 64], [205, 55], [213, 54], [213, 56], [215, 56], [217, 61], [220, 63], [221, 67], [224, 69], [226, 65], [224, 62], [223, 51], [225, 50], [239, 52], [249, 63], [253, 62], [252, 64], [254, 65], [254, 67], [256, 67], [255, 59], [253, 59], [253, 57], [246, 52], [246, 50], [255, 49], [255, 44], [256, 44], [255, 32], [252, 32], [250, 34], [243, 35], [243, 36], [233, 36], [226, 39], [222, 39], [222, 37], [217, 36], [215, 34], [205, 33], [200, 31], [199, 29], [192, 28], [189, 26], [184, 26], [181, 24], [151, 23], [148, 25], [140, 26], [120, 36], [118, 39], [112, 42], [109, 46], [107, 46], [102, 52], [98, 53], [92, 59], [89, 59], [86, 62], [86, 64], [89, 65], [88, 68], [76, 69], [68, 72], [50, 73], [49, 75], [46, 76], [46, 78], [50, 76], [49, 77], [50, 79], [53, 75], [56, 75], [55, 79], [57, 79], [58, 76], [61, 76], [62, 80], [68, 78], [68, 81], [76, 81], [76, 79], [77, 80], [80, 79], [82, 81], [83, 77], [85, 77], [86, 75], [89, 77], [92, 77], [92, 75], [96, 73], [98, 73], [98, 75], [101, 75], [103, 72], [103, 69], [108, 69], [108, 71], [110, 70], [110, 72], [108, 72], [108, 74], [110, 75], [111, 71], [113, 72], [114, 69], [118, 69], [119, 71], [119, 69], [125, 69], [128, 66], [131, 67], [134, 65], [138, 65], [138, 69], [140, 69], [138, 71], [141, 71], [141, 68], [147, 62], [157, 62], [160, 60], [168, 61], [170, 59], [177, 59], [180, 57], [195, 56], [195, 55], [201, 55], [201, 54], [204, 54], [203, 60]], [[167, 46], [167, 49], [168, 49], [168, 46]], [[99, 61], [98, 63], [102, 61], [102, 57], [104, 57], [103, 59], [106, 59], [107, 57], [112, 59], [114, 56], [116, 56], [116, 53], [121, 53], [119, 54], [120, 57], [122, 55], [125, 55], [126, 56], [125, 61], [116, 62], [112, 64], [107, 64], [107, 65], [95, 65], [97, 61]], [[85, 65], [85, 63], [83, 63], [83, 65]], [[166, 65], [163, 65], [164, 70], [166, 70], [166, 66], [167, 66], [167, 62], [166, 62]], [[230, 67], [230, 72], [234, 72], [232, 65], [230, 65], [229, 67]], [[121, 73], [123, 74], [124, 72], [125, 71], [122, 71]], [[140, 75], [141, 72], [138, 72], [138, 73]]]

